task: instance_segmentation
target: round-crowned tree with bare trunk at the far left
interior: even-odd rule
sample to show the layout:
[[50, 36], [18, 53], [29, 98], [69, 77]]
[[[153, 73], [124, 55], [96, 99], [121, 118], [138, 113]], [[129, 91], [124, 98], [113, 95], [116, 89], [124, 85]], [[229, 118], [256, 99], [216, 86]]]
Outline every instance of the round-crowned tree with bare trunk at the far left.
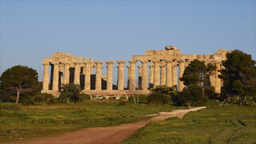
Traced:
[[38, 82], [38, 73], [27, 66], [16, 65], [4, 71], [0, 77], [1, 93], [5, 95], [16, 94], [16, 103], [20, 94], [34, 90]]

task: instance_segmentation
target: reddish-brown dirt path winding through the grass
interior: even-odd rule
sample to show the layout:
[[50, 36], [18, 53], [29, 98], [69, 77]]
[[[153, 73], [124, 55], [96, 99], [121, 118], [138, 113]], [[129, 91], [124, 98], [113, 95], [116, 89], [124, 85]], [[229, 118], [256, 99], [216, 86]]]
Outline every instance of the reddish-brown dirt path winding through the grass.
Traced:
[[131, 124], [121, 124], [112, 127], [85, 128], [77, 132], [69, 132], [56, 137], [44, 137], [30, 139], [24, 143], [120, 143], [130, 135], [134, 134], [139, 128], [153, 121], [160, 121], [170, 117], [183, 118], [189, 111], [197, 111], [206, 107], [196, 107], [191, 109], [179, 109], [172, 112], [162, 112], [157, 117]]

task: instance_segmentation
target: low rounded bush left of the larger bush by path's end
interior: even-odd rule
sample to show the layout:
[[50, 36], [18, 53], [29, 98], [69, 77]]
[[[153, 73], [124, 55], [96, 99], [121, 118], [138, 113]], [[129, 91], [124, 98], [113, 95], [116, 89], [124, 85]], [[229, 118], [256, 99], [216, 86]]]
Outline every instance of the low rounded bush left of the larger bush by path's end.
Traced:
[[152, 92], [147, 96], [147, 103], [155, 104], [155, 105], [163, 105], [167, 104], [170, 100], [170, 96], [166, 94], [161, 94], [158, 92]]

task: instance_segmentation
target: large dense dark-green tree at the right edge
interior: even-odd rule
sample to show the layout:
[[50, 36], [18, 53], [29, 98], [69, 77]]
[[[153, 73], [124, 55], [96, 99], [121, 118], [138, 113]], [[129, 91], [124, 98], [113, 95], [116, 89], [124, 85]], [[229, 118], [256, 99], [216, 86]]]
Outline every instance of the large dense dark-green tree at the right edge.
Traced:
[[221, 94], [255, 96], [256, 95], [256, 67], [250, 54], [234, 50], [226, 54], [227, 60], [222, 61], [225, 69], [221, 69], [219, 78], [223, 79]]

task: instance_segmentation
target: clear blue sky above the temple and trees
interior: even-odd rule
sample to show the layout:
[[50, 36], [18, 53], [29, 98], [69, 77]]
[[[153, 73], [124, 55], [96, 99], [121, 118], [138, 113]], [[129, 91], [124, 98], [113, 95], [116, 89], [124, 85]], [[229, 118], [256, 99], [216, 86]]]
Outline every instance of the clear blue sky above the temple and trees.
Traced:
[[[182, 54], [240, 49], [255, 60], [255, 1], [2, 1], [1, 71], [27, 65], [43, 80], [54, 52], [130, 60], [173, 45]], [[126, 63], [128, 65], [128, 63]]]

